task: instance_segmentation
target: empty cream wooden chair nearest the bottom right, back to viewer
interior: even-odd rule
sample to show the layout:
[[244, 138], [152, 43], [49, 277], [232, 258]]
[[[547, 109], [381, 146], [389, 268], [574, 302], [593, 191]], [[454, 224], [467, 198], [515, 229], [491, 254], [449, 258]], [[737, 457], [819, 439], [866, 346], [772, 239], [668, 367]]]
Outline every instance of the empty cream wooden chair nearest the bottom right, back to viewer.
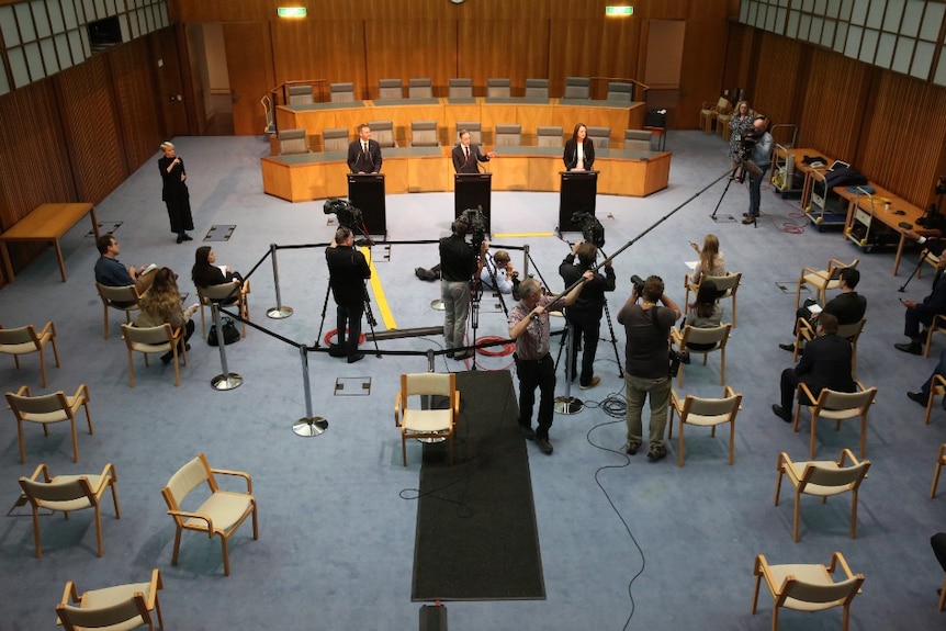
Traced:
[[[864, 574], [854, 574], [841, 552], [831, 555], [831, 564], [820, 563], [769, 565], [763, 554], [755, 557], [755, 593], [752, 613], [758, 605], [762, 581], [772, 594], [772, 630], [778, 631], [778, 610], [782, 607], [797, 611], [823, 611], [843, 608], [841, 629], [847, 631], [851, 622], [851, 602], [860, 591]], [[835, 579], [835, 576], [837, 579]]]

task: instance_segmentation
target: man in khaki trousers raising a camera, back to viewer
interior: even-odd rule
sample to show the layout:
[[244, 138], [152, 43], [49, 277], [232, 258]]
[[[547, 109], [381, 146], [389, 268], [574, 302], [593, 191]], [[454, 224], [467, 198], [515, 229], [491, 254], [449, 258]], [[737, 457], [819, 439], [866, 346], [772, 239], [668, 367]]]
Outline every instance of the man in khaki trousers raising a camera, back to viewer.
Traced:
[[[627, 337], [624, 384], [628, 390], [628, 442], [624, 452], [633, 455], [641, 448], [643, 427], [641, 413], [650, 394], [651, 422], [647, 459], [656, 462], [666, 457], [664, 430], [667, 426], [667, 402], [671, 395], [669, 342], [671, 327], [680, 317], [677, 304], [664, 294], [664, 281], [649, 277], [640, 282], [632, 277], [631, 297], [618, 312], [618, 323], [624, 325]], [[638, 300], [641, 300], [638, 304]], [[662, 303], [663, 306], [660, 306]]]

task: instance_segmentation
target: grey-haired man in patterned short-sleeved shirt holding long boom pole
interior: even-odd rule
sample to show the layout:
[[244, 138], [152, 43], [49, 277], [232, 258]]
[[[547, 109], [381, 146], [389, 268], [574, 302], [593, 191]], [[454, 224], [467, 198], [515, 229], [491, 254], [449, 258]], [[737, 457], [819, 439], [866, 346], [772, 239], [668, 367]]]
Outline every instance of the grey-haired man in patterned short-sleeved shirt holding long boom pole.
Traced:
[[[527, 440], [536, 439], [539, 450], [551, 455], [549, 428], [555, 412], [555, 362], [549, 353], [551, 323], [549, 308], [562, 303], [574, 304], [582, 288], [594, 277], [594, 272], [582, 274], [577, 283], [564, 297], [544, 295], [539, 281], [528, 278], [519, 283], [521, 300], [509, 311], [509, 337], [516, 340], [516, 375], [519, 378], [519, 429]], [[539, 427], [532, 429], [532, 407], [536, 405], [536, 388], [539, 388]], [[665, 404], [666, 405], [666, 404]], [[666, 413], [666, 410], [665, 410]]]

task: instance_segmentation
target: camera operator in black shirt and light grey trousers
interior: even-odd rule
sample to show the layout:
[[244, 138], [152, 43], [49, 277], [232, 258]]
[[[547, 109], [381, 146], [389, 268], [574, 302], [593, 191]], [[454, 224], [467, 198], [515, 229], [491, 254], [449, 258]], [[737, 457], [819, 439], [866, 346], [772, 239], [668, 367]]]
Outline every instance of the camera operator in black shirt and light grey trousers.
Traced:
[[447, 357], [458, 361], [470, 359], [473, 352], [453, 349], [464, 346], [466, 316], [470, 312], [470, 281], [476, 273], [480, 255], [489, 244], [485, 240], [477, 250], [466, 243], [470, 224], [466, 215], [454, 219], [453, 234], [440, 239], [440, 297], [443, 300], [443, 340]]

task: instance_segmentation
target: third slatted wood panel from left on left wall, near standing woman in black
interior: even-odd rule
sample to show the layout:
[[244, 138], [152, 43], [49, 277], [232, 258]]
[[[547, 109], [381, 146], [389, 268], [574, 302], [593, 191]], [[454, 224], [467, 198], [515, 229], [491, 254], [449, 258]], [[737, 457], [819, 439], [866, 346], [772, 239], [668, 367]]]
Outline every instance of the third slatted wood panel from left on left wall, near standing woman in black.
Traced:
[[161, 143], [153, 64], [144, 38], [110, 50], [108, 59], [131, 173], [149, 160]]

